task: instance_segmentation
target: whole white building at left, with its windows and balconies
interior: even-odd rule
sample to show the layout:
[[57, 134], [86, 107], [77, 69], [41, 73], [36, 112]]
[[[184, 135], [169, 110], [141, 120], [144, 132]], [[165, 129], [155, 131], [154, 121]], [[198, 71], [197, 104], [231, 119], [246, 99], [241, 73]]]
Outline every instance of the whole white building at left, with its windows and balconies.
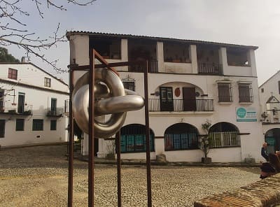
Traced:
[[0, 145], [65, 142], [69, 89], [31, 63], [0, 64]]

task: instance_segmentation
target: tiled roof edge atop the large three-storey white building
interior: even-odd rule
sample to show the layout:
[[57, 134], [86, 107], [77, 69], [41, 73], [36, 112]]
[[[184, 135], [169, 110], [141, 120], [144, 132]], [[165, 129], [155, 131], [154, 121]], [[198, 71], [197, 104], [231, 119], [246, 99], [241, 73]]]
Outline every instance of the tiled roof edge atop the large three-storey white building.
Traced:
[[102, 32], [93, 32], [93, 31], [67, 31], [66, 36], [69, 39], [71, 35], [88, 35], [88, 36], [97, 36], [97, 37], [117, 37], [117, 38], [142, 38], [146, 40], [155, 40], [155, 41], [176, 41], [181, 43], [196, 43], [196, 44], [205, 44], [205, 45], [221, 45], [224, 47], [237, 47], [237, 48], [250, 48], [253, 50], [257, 50], [257, 46], [253, 45], [237, 45], [230, 43], [215, 43], [210, 41], [199, 41], [199, 40], [188, 40], [188, 39], [178, 39], [178, 38], [164, 38], [157, 36], [140, 36], [140, 35], [132, 35], [132, 34], [110, 34], [110, 33], [102, 33]]

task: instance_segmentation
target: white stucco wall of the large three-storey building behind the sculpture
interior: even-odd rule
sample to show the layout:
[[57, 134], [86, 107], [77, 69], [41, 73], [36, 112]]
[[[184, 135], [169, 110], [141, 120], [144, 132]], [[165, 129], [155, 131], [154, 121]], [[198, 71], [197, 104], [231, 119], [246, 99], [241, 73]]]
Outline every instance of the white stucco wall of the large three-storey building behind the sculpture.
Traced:
[[[78, 57], [87, 54], [88, 38], [83, 36], [76, 36], [71, 38], [72, 44], [83, 45], [83, 48], [78, 47], [82, 52], [79, 52], [74, 46], [71, 52], [71, 57]], [[80, 42], [81, 41], [81, 42]], [[123, 45], [123, 44], [122, 44]], [[164, 150], [163, 136], [165, 130], [172, 124], [184, 122], [192, 124], [197, 128], [200, 134], [204, 134], [201, 129], [201, 124], [206, 120], [209, 120], [212, 124], [218, 122], [229, 122], [234, 124], [239, 132], [241, 133], [241, 147], [237, 148], [216, 148], [211, 149], [209, 157], [212, 157], [212, 162], [241, 162], [247, 157], [255, 158], [256, 162], [262, 160], [260, 157], [260, 147], [263, 141], [262, 125], [259, 117], [256, 122], [237, 122], [236, 109], [239, 107], [251, 107], [255, 112], [260, 115], [260, 100], [258, 97], [258, 81], [256, 77], [255, 69], [255, 56], [254, 51], [250, 50], [249, 61], [250, 66], [239, 67], [239, 66], [228, 66], [226, 48], [220, 48], [218, 56], [220, 64], [223, 65], [223, 76], [206, 76], [197, 74], [197, 57], [196, 57], [196, 46], [190, 45], [190, 59], [191, 64], [180, 64], [180, 63], [166, 63], [163, 60], [163, 44], [162, 42], [157, 43], [157, 58], [158, 58], [158, 71], [160, 73], [149, 73], [148, 74], [148, 98], [155, 99], [153, 94], [158, 90], [161, 85], [169, 85], [173, 87], [183, 87], [183, 85], [193, 85], [197, 90], [200, 90], [200, 94], [207, 94], [208, 97], [199, 97], [202, 99], [214, 99], [214, 111], [210, 112], [150, 112], [150, 128], [153, 130], [155, 138], [155, 152], [151, 152], [151, 157], [155, 158], [155, 155], [165, 154], [167, 160], [170, 162], [175, 161], [189, 161], [189, 162], [200, 162], [203, 156], [200, 150], [180, 150], [180, 151], [169, 151]], [[71, 49], [72, 50], [72, 49]], [[122, 48], [122, 51], [124, 49]], [[123, 54], [123, 52], [122, 52]], [[123, 59], [124, 57], [122, 57]], [[83, 64], [87, 64], [87, 59], [83, 59]], [[110, 62], [110, 60], [109, 60]], [[172, 74], [174, 73], [174, 74]], [[181, 73], [181, 74], [175, 74]], [[185, 74], [184, 74], [185, 73]], [[120, 78], [126, 77], [133, 78], [135, 80], [135, 89], [141, 96], [144, 96], [144, 76], [141, 73], [121, 72]], [[232, 103], [221, 104], [218, 103], [218, 85], [219, 80], [230, 80], [232, 83]], [[252, 83], [253, 89], [253, 103], [241, 104], [239, 103], [239, 92], [238, 83], [241, 82]], [[175, 97], [175, 96], [174, 96]], [[180, 98], [180, 97], [179, 97]], [[127, 113], [127, 124], [144, 124], [144, 108], [141, 110]], [[100, 141], [102, 142], [102, 141]], [[103, 144], [102, 144], [103, 145]], [[100, 147], [102, 155], [106, 150], [104, 146]], [[153, 154], [154, 153], [154, 154]], [[144, 159], [145, 153], [124, 153], [122, 158], [133, 158], [133, 159]], [[152, 159], [153, 159], [152, 158]]]

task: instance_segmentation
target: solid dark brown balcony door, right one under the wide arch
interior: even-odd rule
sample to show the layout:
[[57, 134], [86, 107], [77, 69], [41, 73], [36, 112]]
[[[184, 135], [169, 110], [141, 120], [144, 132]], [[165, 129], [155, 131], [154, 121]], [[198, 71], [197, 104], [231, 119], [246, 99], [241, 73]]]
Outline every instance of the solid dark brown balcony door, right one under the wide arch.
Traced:
[[185, 111], [197, 110], [195, 87], [183, 87], [183, 109]]

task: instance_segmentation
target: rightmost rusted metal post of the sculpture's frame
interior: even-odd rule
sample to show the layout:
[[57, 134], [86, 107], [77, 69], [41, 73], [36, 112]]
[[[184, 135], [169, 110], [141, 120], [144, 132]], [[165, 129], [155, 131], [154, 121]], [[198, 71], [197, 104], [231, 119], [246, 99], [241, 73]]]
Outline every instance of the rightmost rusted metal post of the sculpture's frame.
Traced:
[[148, 61], [146, 62], [146, 69], [144, 69], [144, 94], [145, 94], [145, 124], [146, 124], [147, 197], [148, 197], [148, 207], [152, 207], [150, 123], [149, 123], [149, 115], [148, 115]]

